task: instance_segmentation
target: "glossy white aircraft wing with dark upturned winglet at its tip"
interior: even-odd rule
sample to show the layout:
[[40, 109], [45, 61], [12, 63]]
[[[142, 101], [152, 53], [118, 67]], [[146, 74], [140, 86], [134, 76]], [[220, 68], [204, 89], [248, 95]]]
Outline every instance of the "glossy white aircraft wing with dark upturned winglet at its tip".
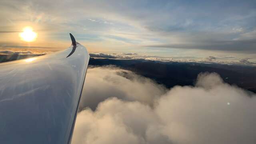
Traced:
[[72, 39], [66, 50], [0, 64], [0, 143], [69, 144], [89, 58]]

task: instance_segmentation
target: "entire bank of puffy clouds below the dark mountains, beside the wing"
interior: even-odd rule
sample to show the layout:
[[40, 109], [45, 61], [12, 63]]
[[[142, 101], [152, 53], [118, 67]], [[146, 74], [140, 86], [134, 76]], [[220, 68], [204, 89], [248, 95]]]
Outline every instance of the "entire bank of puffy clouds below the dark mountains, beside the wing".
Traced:
[[[149, 79], [130, 78], [138, 77], [130, 71], [90, 68], [88, 72], [83, 98], [101, 100], [96, 110], [87, 107], [78, 113], [73, 144], [256, 142], [254, 95], [224, 83], [216, 73], [200, 74], [195, 86], [175, 86], [166, 92]], [[84, 102], [83, 106], [90, 103]]]

